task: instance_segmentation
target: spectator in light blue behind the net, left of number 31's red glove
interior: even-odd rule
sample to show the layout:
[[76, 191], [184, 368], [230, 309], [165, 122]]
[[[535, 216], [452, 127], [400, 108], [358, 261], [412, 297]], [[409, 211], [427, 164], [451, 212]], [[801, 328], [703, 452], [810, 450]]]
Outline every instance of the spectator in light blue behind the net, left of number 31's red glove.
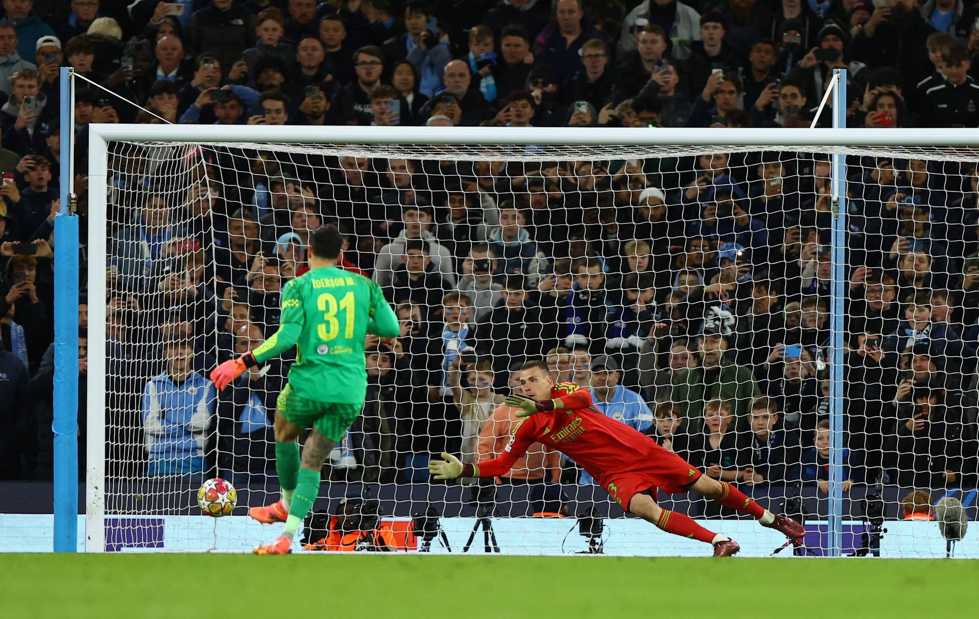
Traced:
[[214, 385], [195, 372], [194, 345], [169, 340], [166, 369], [143, 390], [143, 434], [150, 476], [203, 477], [205, 445], [214, 414]]

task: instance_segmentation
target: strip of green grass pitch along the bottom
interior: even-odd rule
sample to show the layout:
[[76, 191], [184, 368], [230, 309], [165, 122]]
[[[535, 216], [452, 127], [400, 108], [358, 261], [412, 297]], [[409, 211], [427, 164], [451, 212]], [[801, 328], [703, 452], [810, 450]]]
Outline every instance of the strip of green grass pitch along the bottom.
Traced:
[[11, 618], [893, 618], [969, 613], [979, 562], [7, 554], [0, 574]]

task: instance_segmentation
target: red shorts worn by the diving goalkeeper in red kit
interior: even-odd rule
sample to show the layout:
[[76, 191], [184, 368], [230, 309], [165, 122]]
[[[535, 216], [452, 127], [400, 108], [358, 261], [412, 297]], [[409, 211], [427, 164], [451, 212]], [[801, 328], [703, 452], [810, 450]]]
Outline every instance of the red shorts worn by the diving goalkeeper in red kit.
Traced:
[[685, 493], [700, 476], [700, 471], [676, 453], [657, 446], [646, 457], [636, 460], [629, 470], [609, 473], [600, 483], [612, 499], [629, 511], [629, 501], [634, 495], [653, 487], [668, 495]]

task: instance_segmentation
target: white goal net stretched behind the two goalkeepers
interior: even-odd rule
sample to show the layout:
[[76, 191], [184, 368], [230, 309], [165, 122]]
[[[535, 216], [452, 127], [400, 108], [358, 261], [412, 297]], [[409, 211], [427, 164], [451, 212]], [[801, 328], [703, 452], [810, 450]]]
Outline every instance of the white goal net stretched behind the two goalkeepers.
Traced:
[[[847, 179], [838, 449], [834, 153]], [[608, 416], [804, 519], [812, 553], [832, 553], [834, 513], [840, 553], [944, 552], [938, 528], [916, 520], [946, 496], [975, 509], [977, 161], [932, 148], [109, 141], [105, 227], [93, 214], [91, 229], [106, 252], [90, 257], [107, 273], [105, 465], [89, 467], [105, 546], [267, 541], [245, 514], [279, 496], [271, 424], [295, 356], [220, 394], [208, 376], [276, 330], [309, 231], [332, 222], [344, 267], [381, 284], [401, 330], [393, 350], [367, 343], [367, 402], [314, 512], [377, 501], [413, 550], [424, 540], [412, 516], [432, 507], [453, 551], [491, 515], [504, 552], [550, 553], [587, 547], [566, 534], [593, 509], [606, 552], [704, 553], [627, 518], [539, 444], [482, 491], [430, 481], [441, 452], [502, 451], [515, 369], [544, 358]], [[237, 488], [232, 516], [200, 515], [211, 477]], [[659, 500], [743, 552], [784, 542], [714, 501]], [[481, 532], [469, 551], [484, 549]]]

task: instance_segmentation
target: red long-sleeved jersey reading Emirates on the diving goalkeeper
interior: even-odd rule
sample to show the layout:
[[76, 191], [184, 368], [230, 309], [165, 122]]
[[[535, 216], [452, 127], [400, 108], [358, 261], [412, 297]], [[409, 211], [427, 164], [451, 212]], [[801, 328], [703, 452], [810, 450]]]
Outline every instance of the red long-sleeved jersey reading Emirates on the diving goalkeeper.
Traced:
[[491, 460], [480, 462], [480, 477], [496, 477], [535, 443], [552, 446], [588, 471], [601, 486], [609, 476], [632, 470], [660, 453], [673, 456], [656, 441], [625, 423], [602, 414], [587, 389], [575, 383], [559, 383], [551, 398], [561, 400], [564, 410], [537, 412], [517, 425], [510, 443]]

